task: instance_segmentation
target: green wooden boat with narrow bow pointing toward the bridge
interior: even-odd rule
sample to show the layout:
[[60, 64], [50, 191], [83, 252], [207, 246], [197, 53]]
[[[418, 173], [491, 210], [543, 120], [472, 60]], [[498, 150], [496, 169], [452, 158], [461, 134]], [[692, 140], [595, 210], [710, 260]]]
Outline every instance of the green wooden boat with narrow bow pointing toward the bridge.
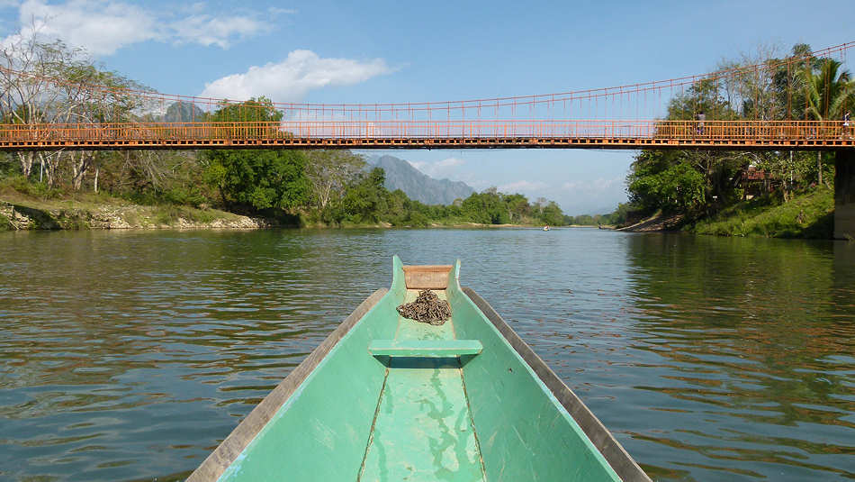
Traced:
[[[650, 480], [455, 266], [403, 266], [247, 415], [196, 481]], [[441, 326], [396, 311], [419, 289]]]

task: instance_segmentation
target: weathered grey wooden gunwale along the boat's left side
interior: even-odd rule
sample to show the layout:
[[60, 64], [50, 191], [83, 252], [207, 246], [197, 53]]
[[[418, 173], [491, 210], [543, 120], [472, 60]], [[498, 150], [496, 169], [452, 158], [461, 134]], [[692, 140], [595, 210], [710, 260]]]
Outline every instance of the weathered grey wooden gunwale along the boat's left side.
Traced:
[[300, 365], [294, 368], [291, 373], [285, 377], [279, 385], [277, 385], [264, 400], [262, 400], [251, 412], [244, 418], [235, 429], [229, 433], [229, 436], [223, 440], [220, 445], [214, 449], [202, 464], [193, 470], [190, 477], [186, 478], [187, 482], [202, 482], [218, 480], [227, 468], [240, 456], [247, 448], [249, 443], [253, 441], [259, 432], [265, 428], [266, 424], [274, 417], [274, 415], [282, 408], [288, 399], [302, 385], [302, 382], [308, 378], [315, 368], [320, 365], [329, 354], [329, 352], [338, 345], [338, 341], [347, 335], [348, 332], [362, 320], [375, 305], [377, 305], [383, 296], [389, 292], [389, 288], [380, 288], [371, 296], [365, 298], [353, 313], [338, 324], [329, 336], [320, 342], [320, 345], [315, 350], [302, 360]]

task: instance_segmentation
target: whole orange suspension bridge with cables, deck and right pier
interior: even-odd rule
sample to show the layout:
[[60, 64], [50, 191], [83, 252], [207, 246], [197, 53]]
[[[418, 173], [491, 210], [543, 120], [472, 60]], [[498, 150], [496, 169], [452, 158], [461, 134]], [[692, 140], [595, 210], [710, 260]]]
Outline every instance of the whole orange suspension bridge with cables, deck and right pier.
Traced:
[[[855, 126], [833, 113], [829, 80], [812, 96], [800, 77], [817, 59], [845, 63], [853, 47], [625, 86], [389, 104], [167, 95], [7, 66], [0, 67], [0, 150], [834, 150], [835, 233], [855, 237]], [[56, 106], [33, 109], [45, 92]], [[705, 105], [726, 105], [731, 115], [714, 118]], [[665, 120], [675, 106], [682, 119]]]

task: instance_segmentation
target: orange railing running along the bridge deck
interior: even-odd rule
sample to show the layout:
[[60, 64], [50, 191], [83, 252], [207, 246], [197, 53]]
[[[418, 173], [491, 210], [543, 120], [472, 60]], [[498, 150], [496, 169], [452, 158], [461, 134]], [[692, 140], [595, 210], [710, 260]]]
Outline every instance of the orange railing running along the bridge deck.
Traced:
[[855, 147], [842, 121], [283, 121], [0, 124], [0, 150]]

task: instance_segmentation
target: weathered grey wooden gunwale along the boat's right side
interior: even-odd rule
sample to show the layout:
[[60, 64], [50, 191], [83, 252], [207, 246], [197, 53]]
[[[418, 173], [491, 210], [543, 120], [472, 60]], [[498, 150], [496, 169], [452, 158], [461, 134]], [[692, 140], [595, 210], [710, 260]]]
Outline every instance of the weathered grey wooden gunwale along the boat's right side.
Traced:
[[625, 482], [652, 482], [652, 479], [644, 472], [629, 452], [618, 442], [606, 426], [599, 421], [596, 415], [590, 411], [579, 396], [563, 380], [555, 375], [552, 368], [532, 350], [530, 346], [519, 337], [517, 332], [505, 322], [501, 315], [487, 303], [484, 298], [475, 293], [470, 287], [460, 288], [466, 296], [481, 310], [482, 314], [493, 323], [493, 326], [501, 333], [510, 346], [517, 351], [518, 355], [532, 368], [536, 376], [555, 396], [573, 420], [579, 424], [582, 432], [588, 436], [594, 447], [599, 450], [608, 462], [608, 465]]

